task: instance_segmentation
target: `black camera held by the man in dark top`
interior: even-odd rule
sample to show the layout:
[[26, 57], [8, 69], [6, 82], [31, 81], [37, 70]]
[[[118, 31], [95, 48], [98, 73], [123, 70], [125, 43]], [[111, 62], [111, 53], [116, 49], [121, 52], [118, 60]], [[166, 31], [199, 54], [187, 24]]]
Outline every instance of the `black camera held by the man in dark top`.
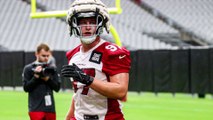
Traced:
[[36, 64], [33, 64], [33, 71], [35, 72], [35, 68], [37, 66], [41, 66], [42, 67], [42, 70], [41, 72], [39, 73], [36, 73], [38, 74], [40, 77], [45, 77], [45, 76], [52, 76], [54, 75], [54, 73], [56, 72], [56, 68], [53, 67], [53, 66], [50, 66], [49, 64], [47, 63], [36, 63]]

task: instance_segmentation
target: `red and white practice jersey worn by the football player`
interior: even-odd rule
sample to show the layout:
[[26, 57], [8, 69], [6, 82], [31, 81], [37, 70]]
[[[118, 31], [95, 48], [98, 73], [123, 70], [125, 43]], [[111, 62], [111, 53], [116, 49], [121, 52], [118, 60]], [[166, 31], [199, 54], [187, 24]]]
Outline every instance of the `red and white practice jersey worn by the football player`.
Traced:
[[[130, 70], [129, 51], [104, 40], [85, 53], [80, 45], [67, 52], [66, 56], [70, 65], [75, 63], [87, 75], [106, 82], [110, 81], [109, 76]], [[99, 120], [123, 119], [119, 100], [107, 98], [75, 80], [72, 80], [72, 84], [77, 120], [83, 120], [85, 115], [97, 115]]]

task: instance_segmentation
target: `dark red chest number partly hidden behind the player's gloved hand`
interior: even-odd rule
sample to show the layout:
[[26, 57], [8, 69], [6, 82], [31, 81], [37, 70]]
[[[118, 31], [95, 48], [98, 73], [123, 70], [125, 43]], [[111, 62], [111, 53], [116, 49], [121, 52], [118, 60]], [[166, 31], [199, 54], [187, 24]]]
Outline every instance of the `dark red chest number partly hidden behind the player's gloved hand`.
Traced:
[[[83, 69], [83, 71], [87, 75], [95, 77], [95, 69], [93, 69], [93, 68], [86, 68], [86, 69]], [[77, 92], [77, 90], [78, 90], [77, 81], [74, 80], [72, 84], [73, 84], [73, 87], [74, 87], [74, 91]], [[84, 86], [81, 94], [87, 95], [88, 91], [89, 91], [89, 87], [88, 86]]]

